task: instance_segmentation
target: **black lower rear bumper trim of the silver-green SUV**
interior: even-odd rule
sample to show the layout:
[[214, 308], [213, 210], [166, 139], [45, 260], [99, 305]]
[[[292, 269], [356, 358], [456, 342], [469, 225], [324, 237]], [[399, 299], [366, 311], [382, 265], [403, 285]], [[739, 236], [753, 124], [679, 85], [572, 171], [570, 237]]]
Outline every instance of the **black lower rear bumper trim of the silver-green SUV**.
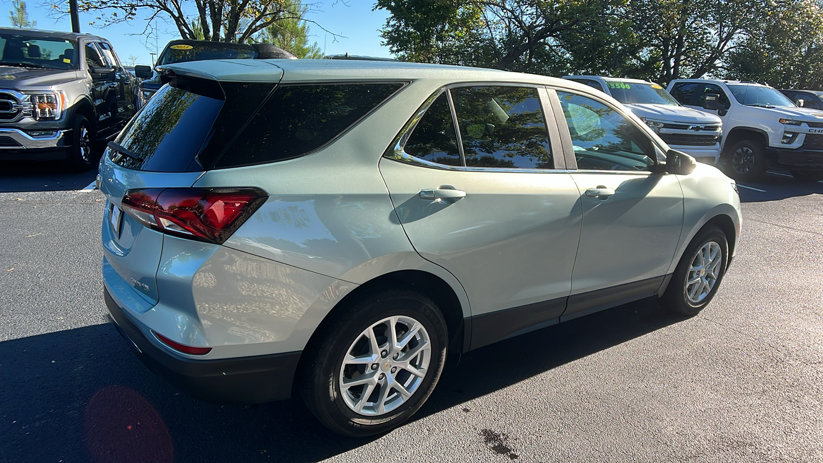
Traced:
[[152, 344], [104, 288], [106, 306], [120, 334], [152, 372], [202, 400], [256, 404], [291, 397], [301, 352], [255, 357], [193, 360]]

